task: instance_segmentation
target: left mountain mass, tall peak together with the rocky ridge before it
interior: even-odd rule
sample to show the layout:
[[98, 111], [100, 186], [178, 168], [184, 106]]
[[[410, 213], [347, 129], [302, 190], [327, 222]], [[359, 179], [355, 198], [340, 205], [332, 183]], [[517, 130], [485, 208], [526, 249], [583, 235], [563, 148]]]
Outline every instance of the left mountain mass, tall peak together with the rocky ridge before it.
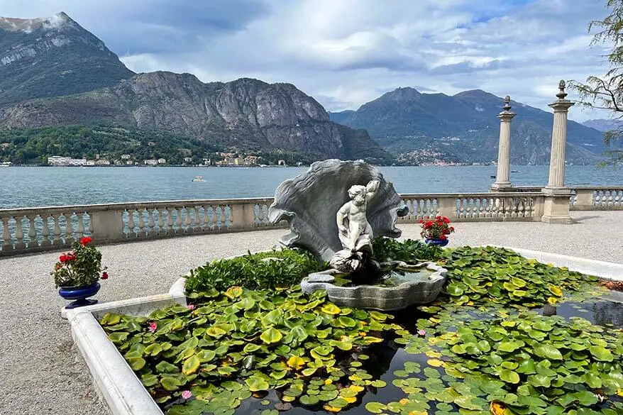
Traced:
[[65, 13], [0, 18], [0, 64], [0, 128], [121, 127], [236, 150], [394, 161], [367, 132], [333, 123], [292, 84], [246, 78], [205, 84], [192, 74], [134, 74]]

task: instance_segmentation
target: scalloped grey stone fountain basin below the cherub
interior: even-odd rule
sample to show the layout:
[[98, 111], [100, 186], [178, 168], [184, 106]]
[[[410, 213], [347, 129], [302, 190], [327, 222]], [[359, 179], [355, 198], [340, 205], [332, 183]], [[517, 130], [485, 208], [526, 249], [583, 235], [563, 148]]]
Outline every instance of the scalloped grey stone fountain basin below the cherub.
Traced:
[[325, 289], [329, 299], [338, 306], [394, 311], [434, 301], [441, 292], [443, 283], [446, 282], [447, 270], [434, 262], [409, 265], [402, 261], [390, 261], [380, 265], [394, 267], [414, 275], [411, 280], [395, 278], [394, 281], [397, 280], [399, 284], [392, 287], [379, 285], [344, 287], [338, 285], [336, 281], [336, 277], [342, 273], [331, 268], [309, 274], [301, 281], [301, 288], [307, 294]]

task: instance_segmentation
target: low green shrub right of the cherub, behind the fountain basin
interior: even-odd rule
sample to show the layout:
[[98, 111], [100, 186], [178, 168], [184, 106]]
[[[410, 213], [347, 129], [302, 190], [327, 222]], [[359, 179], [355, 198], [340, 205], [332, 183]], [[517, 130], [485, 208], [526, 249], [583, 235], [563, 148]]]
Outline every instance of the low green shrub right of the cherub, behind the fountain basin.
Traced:
[[407, 239], [399, 242], [395, 238], [375, 238], [372, 242], [374, 258], [379, 261], [398, 260], [404, 262], [436, 261], [443, 256], [443, 249], [426, 245], [421, 240]]

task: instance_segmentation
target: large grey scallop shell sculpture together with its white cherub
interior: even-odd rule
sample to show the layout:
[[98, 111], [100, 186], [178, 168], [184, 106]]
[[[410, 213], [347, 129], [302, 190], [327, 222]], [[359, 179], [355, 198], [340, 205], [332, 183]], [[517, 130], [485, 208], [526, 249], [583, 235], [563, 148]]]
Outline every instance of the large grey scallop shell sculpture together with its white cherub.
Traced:
[[[373, 236], [400, 236], [396, 223], [408, 211], [377, 167], [332, 159], [314, 162], [307, 172], [282, 182], [268, 220], [287, 221], [290, 233], [280, 238], [283, 246], [305, 248], [322, 261], [342, 250], [350, 257], [355, 248], [363, 259], [363, 253], [372, 253]], [[337, 223], [339, 215], [343, 219]]]

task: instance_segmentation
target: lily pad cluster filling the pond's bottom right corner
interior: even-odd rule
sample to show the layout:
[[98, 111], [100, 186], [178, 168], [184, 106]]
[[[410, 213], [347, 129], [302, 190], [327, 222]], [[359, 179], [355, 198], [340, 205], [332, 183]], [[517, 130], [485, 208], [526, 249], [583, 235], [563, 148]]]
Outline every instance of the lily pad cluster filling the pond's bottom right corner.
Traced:
[[622, 331], [534, 311], [424, 309], [436, 314], [417, 325], [432, 336], [404, 336], [404, 350], [426, 365], [394, 372], [401, 414], [623, 414]]

